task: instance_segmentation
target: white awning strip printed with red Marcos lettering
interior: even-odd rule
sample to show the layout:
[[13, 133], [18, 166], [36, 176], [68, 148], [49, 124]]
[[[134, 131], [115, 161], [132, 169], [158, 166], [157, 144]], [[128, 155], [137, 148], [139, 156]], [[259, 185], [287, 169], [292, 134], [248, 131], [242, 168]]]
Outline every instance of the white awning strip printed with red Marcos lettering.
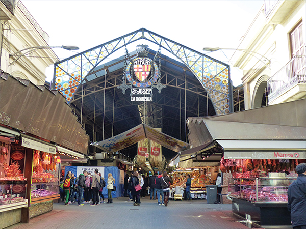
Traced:
[[306, 151], [224, 151], [224, 159], [306, 159]]

